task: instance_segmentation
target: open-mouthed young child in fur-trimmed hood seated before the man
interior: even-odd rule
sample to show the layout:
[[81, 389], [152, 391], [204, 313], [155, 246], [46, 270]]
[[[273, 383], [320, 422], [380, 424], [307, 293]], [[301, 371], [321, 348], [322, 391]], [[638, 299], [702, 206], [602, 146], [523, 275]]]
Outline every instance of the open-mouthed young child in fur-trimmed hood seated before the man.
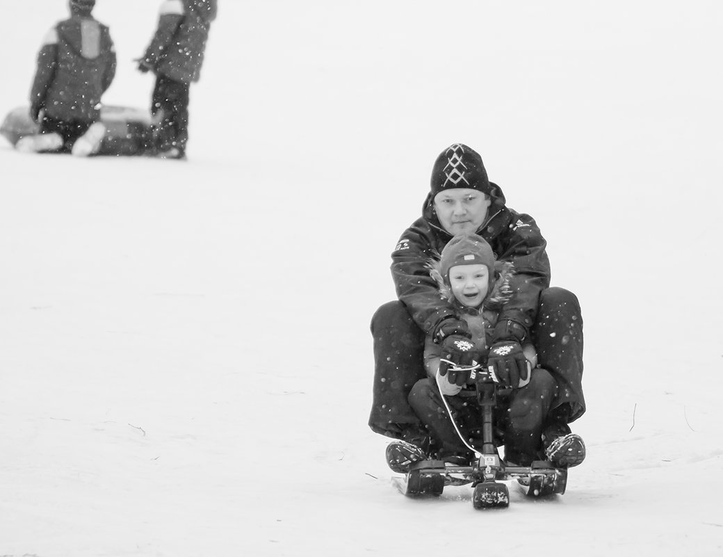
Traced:
[[[387, 461], [395, 472], [406, 472], [413, 462], [434, 455], [455, 464], [469, 464], [473, 454], [456, 432], [441, 396], [452, 409], [455, 422], [473, 447], [482, 446], [482, 412], [476, 398], [461, 396], [466, 386], [450, 371], [450, 360], [469, 364], [490, 360], [488, 339], [497, 323], [500, 307], [510, 297], [511, 263], [495, 261], [489, 244], [476, 234], [461, 234], [448, 242], [439, 261], [430, 263], [442, 298], [447, 299], [459, 318], [466, 321], [471, 339], [450, 336], [440, 345], [432, 336], [424, 347], [427, 379], [411, 389], [409, 404], [429, 432], [426, 442], [414, 445], [393, 441], [387, 447]], [[472, 346], [474, 345], [474, 346]], [[461, 347], [461, 349], [459, 349]], [[548, 459], [559, 467], [580, 464], [585, 445], [579, 435], [560, 426], [547, 428], [548, 417], [556, 407], [557, 383], [542, 367], [536, 367], [536, 353], [530, 343], [523, 344], [524, 365], [510, 370], [509, 396], [499, 396], [495, 408], [495, 433], [505, 446], [505, 460], [520, 466]], [[471, 354], [461, 362], [461, 354]], [[552, 420], [550, 420], [552, 421]]]

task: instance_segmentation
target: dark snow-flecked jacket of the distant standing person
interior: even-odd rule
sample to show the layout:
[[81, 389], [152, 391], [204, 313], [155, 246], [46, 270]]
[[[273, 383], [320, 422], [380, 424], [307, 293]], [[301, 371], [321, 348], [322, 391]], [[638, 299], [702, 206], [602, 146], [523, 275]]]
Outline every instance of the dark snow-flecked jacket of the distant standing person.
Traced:
[[190, 83], [200, 78], [216, 0], [166, 0], [144, 63], [159, 75]]

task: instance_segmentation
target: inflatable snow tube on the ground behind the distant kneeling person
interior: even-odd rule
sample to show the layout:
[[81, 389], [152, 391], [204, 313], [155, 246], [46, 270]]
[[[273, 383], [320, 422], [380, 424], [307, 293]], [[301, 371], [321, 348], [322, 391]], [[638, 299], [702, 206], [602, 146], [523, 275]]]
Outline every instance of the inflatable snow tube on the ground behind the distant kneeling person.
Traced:
[[[106, 135], [100, 144], [98, 155], [136, 156], [144, 155], [151, 144], [152, 129], [150, 112], [127, 106], [103, 106], [100, 121], [106, 126]], [[11, 145], [21, 137], [35, 135], [40, 126], [30, 118], [30, 109], [19, 106], [5, 116], [0, 135]]]

